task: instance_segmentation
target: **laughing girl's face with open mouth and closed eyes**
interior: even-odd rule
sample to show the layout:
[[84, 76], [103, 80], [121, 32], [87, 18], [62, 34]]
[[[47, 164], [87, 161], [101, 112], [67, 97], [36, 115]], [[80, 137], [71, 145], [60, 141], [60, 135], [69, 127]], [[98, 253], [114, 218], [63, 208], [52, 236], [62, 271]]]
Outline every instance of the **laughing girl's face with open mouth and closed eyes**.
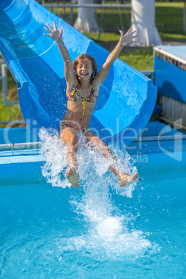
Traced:
[[93, 73], [92, 62], [87, 58], [81, 60], [76, 66], [76, 74], [83, 81], [89, 81]]

